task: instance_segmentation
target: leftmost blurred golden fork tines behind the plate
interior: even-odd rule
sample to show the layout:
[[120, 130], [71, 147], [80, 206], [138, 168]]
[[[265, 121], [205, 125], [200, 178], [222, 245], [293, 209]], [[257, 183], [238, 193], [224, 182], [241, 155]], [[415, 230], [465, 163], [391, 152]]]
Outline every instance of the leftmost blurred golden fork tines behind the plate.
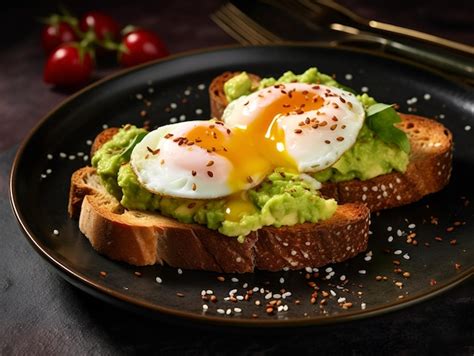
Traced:
[[211, 19], [243, 45], [283, 42], [281, 37], [260, 26], [230, 2], [211, 14]]

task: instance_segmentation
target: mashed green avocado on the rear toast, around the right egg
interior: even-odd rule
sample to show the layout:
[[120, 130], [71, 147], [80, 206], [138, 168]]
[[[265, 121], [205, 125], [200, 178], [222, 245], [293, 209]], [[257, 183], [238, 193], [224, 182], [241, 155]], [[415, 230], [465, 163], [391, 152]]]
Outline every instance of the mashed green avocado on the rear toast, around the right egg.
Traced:
[[[251, 80], [246, 72], [229, 79], [224, 84], [224, 92], [227, 99], [235, 100], [243, 95], [251, 94], [257, 89], [266, 88], [272, 85], [281, 83], [308, 83], [308, 84], [323, 84], [328, 86], [338, 87], [344, 90], [351, 89], [342, 86], [331, 76], [321, 73], [317, 68], [309, 68], [302, 74], [294, 74], [291, 71], [285, 72], [280, 78], [263, 78], [260, 81], [258, 88], [252, 88]], [[377, 104], [374, 98], [367, 94], [357, 95], [357, 99], [362, 103], [366, 111], [366, 122], [359, 132], [357, 141], [351, 149], [346, 151], [342, 157], [331, 167], [314, 174], [314, 177], [320, 182], [341, 182], [354, 178], [360, 180], [371, 179], [382, 174], [387, 174], [393, 170], [398, 172], [405, 172], [409, 162], [409, 144], [406, 135], [393, 127], [393, 123], [397, 121], [386, 120], [387, 124], [375, 132], [372, 128], [379, 128], [380, 125], [371, 125], [373, 119], [386, 119], [386, 116], [397, 117], [395, 110], [386, 105], [383, 107], [384, 111], [379, 111], [375, 115], [369, 116], [370, 108]], [[376, 117], [376, 115], [378, 115]], [[382, 116], [384, 115], [384, 116]], [[398, 118], [399, 119], [399, 118]], [[385, 131], [383, 131], [385, 129]], [[386, 132], [390, 130], [397, 130], [400, 140], [403, 144], [397, 145], [397, 141], [383, 140], [381, 137], [386, 137]], [[378, 134], [380, 133], [380, 135]], [[408, 147], [408, 148], [407, 148]]]

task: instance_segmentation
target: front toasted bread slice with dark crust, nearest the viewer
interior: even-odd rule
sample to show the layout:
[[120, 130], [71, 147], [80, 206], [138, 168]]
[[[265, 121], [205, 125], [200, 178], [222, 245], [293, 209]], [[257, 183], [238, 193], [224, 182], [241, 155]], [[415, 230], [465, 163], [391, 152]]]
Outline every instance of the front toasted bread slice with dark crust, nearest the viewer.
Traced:
[[[85, 194], [75, 197], [76, 192]], [[363, 204], [338, 206], [330, 219], [318, 224], [264, 227], [240, 243], [201, 225], [124, 209], [92, 167], [77, 170], [71, 178], [70, 201], [81, 198], [79, 228], [94, 249], [138, 266], [166, 263], [229, 273], [296, 270], [344, 261], [367, 248], [370, 213]]]

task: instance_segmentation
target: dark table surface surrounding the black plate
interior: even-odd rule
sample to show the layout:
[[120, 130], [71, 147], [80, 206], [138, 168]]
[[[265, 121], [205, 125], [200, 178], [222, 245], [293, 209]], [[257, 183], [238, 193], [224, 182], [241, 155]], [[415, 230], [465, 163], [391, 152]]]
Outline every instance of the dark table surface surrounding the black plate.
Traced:
[[[441, 2], [343, 2], [362, 15], [474, 43], [472, 2], [455, 2], [457, 6], [442, 11]], [[105, 10], [123, 23], [155, 29], [177, 53], [234, 43], [209, 20], [209, 13], [220, 4], [114, 1]], [[93, 6], [84, 2], [71, 7], [81, 12]], [[0, 44], [0, 354], [474, 353], [472, 278], [396, 313], [318, 328], [251, 332], [136, 316], [64, 281], [22, 236], [8, 201], [8, 175], [18, 143], [69, 94], [51, 90], [41, 80], [44, 57], [34, 18], [54, 8], [52, 2], [40, 6], [20, 0], [0, 15], [0, 33], [5, 36]], [[103, 69], [99, 76], [112, 71]]]

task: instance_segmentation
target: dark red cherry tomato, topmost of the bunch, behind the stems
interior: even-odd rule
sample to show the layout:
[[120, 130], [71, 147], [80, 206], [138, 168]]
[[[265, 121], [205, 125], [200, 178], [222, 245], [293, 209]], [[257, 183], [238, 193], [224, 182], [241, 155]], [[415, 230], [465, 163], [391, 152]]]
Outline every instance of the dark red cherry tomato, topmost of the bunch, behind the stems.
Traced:
[[120, 25], [109, 15], [99, 11], [92, 11], [82, 16], [79, 28], [83, 32], [94, 31], [101, 41], [105, 39], [117, 40], [120, 38]]

